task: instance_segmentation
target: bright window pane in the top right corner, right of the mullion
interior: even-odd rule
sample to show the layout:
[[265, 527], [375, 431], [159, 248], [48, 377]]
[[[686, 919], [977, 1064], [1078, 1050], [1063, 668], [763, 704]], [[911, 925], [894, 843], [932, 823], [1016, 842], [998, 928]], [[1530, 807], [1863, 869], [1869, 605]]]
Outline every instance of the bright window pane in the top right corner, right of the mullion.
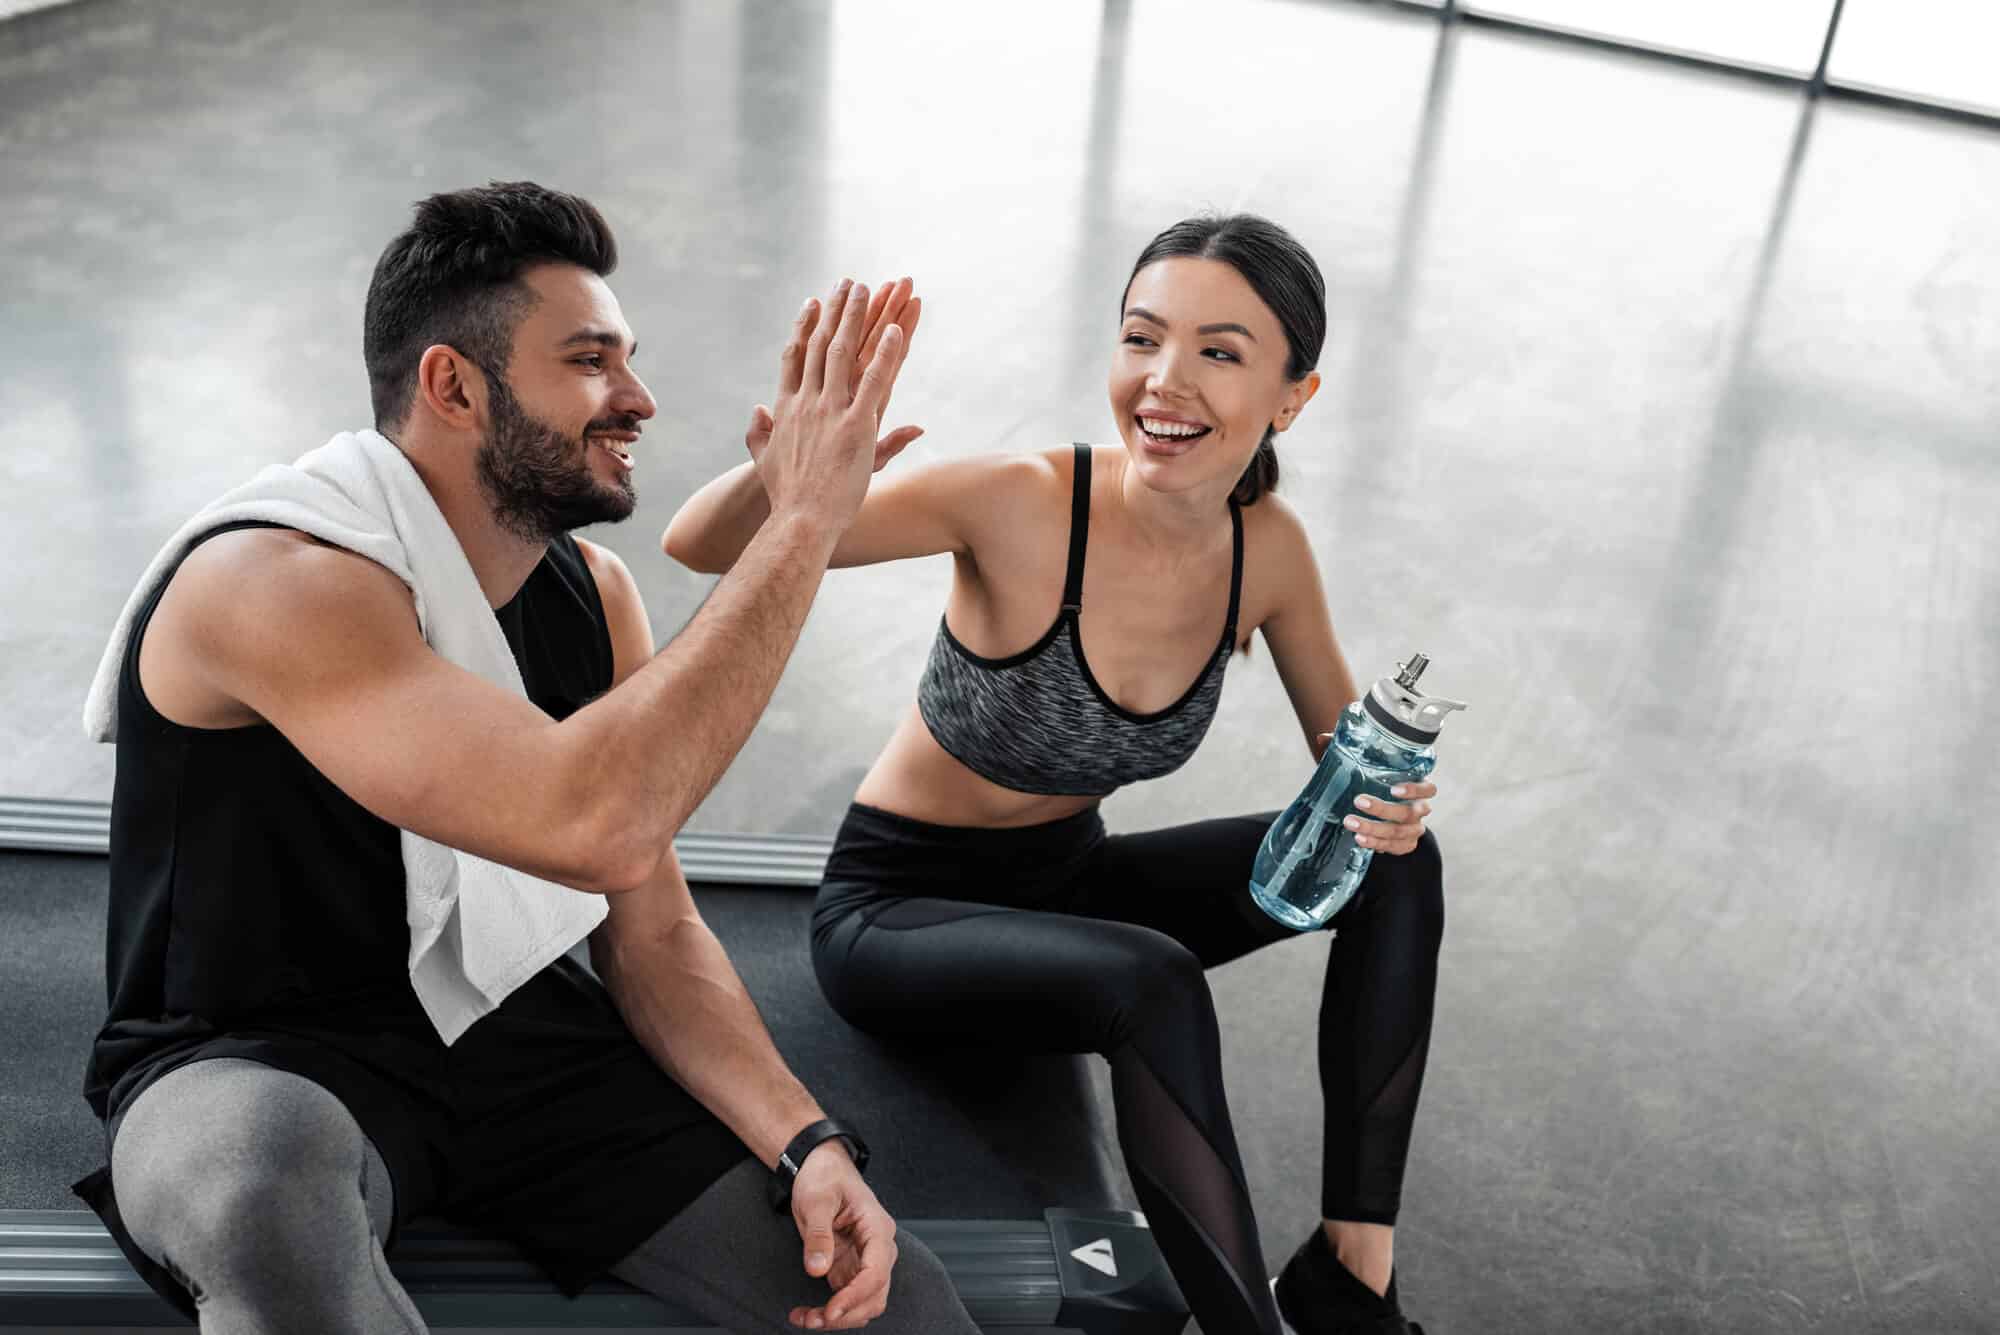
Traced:
[[1826, 76], [1836, 84], [2000, 114], [2000, 4], [1848, 0]]

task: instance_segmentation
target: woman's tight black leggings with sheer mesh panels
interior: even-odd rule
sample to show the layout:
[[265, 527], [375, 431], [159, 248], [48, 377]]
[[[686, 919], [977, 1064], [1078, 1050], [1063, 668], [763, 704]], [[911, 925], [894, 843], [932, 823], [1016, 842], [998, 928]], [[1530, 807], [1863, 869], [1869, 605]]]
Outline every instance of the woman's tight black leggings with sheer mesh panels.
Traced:
[[[820, 987], [862, 1029], [1110, 1061], [1132, 1187], [1212, 1335], [1280, 1329], [1202, 973], [1294, 935], [1248, 893], [1274, 817], [1106, 835], [1094, 807], [966, 829], [856, 803], [812, 919]], [[1332, 925], [1320, 1213], [1394, 1223], [1444, 935], [1436, 841], [1378, 855]]]

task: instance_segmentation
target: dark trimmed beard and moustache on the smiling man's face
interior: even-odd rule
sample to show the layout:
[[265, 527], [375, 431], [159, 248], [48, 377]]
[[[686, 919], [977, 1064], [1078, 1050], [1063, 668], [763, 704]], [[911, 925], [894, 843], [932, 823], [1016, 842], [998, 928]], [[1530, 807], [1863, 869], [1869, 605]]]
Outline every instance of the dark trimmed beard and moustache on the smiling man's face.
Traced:
[[[548, 542], [586, 524], [632, 516], [638, 492], [630, 478], [606, 486], [590, 476], [590, 442], [528, 416], [504, 376], [488, 372], [492, 430], [474, 456], [480, 490], [500, 528], [528, 542]], [[590, 432], [636, 430], [632, 418], [592, 422]]]

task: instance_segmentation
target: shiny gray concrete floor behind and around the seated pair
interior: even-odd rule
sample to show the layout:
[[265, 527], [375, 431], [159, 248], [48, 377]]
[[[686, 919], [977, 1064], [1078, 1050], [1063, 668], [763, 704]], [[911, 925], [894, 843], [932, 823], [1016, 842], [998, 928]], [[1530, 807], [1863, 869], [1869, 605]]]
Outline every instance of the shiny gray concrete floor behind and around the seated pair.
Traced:
[[[366, 416], [408, 202], [596, 200], [658, 556], [808, 292], [914, 274], [920, 452], [1110, 440], [1126, 266], [1252, 208], [1330, 280], [1286, 438], [1360, 673], [1472, 701], [1402, 1229], [1434, 1331], [2000, 1329], [2000, 134], [1382, 6], [88, 0], [0, 26], [0, 791], [102, 797], [130, 582]], [[828, 580], [700, 829], [830, 831], [936, 562]], [[1120, 827], [1278, 805], [1266, 656]], [[1268, 1249], [1314, 1211], [1318, 943], [1216, 979]]]

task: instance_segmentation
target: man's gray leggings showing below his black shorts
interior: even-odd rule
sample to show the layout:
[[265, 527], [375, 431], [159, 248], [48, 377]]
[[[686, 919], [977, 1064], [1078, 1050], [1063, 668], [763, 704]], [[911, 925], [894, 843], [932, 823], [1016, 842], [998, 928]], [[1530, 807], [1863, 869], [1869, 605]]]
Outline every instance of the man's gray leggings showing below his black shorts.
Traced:
[[[112, 1181], [134, 1241], [194, 1293], [202, 1331], [422, 1331], [382, 1257], [394, 1191], [348, 1109], [302, 1075], [212, 1057], [162, 1075], [114, 1125]], [[908, 1233], [878, 1335], [976, 1335], [936, 1255]], [[792, 1221], [746, 1159], [612, 1273], [728, 1331], [794, 1335], [826, 1301]]]

